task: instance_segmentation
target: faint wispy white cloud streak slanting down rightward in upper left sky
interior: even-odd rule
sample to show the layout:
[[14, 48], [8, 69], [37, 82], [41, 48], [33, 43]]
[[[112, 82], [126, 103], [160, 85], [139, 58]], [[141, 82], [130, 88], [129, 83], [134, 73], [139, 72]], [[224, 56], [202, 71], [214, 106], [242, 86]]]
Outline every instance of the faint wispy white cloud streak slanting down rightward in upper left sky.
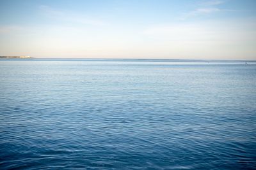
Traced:
[[45, 5], [41, 5], [40, 10], [43, 15], [45, 15], [46, 17], [52, 18], [54, 20], [84, 24], [84, 25], [96, 25], [96, 26], [108, 25], [106, 22], [99, 20], [97, 18], [86, 17], [84, 15], [81, 15], [81, 13], [56, 10], [54, 8], [51, 8]]

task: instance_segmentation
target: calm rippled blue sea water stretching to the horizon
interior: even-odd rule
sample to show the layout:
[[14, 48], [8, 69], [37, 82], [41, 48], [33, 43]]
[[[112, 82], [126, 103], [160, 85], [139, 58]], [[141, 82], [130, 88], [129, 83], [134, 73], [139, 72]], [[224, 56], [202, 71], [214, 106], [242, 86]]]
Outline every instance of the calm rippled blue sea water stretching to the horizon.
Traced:
[[0, 169], [256, 169], [255, 62], [0, 60]]

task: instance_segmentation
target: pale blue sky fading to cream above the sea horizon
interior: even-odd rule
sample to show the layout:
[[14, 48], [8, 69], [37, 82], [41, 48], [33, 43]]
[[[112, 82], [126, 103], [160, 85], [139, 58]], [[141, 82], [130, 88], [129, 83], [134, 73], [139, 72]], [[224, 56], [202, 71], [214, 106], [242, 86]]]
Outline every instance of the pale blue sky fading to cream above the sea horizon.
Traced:
[[256, 1], [0, 0], [0, 55], [256, 60]]

